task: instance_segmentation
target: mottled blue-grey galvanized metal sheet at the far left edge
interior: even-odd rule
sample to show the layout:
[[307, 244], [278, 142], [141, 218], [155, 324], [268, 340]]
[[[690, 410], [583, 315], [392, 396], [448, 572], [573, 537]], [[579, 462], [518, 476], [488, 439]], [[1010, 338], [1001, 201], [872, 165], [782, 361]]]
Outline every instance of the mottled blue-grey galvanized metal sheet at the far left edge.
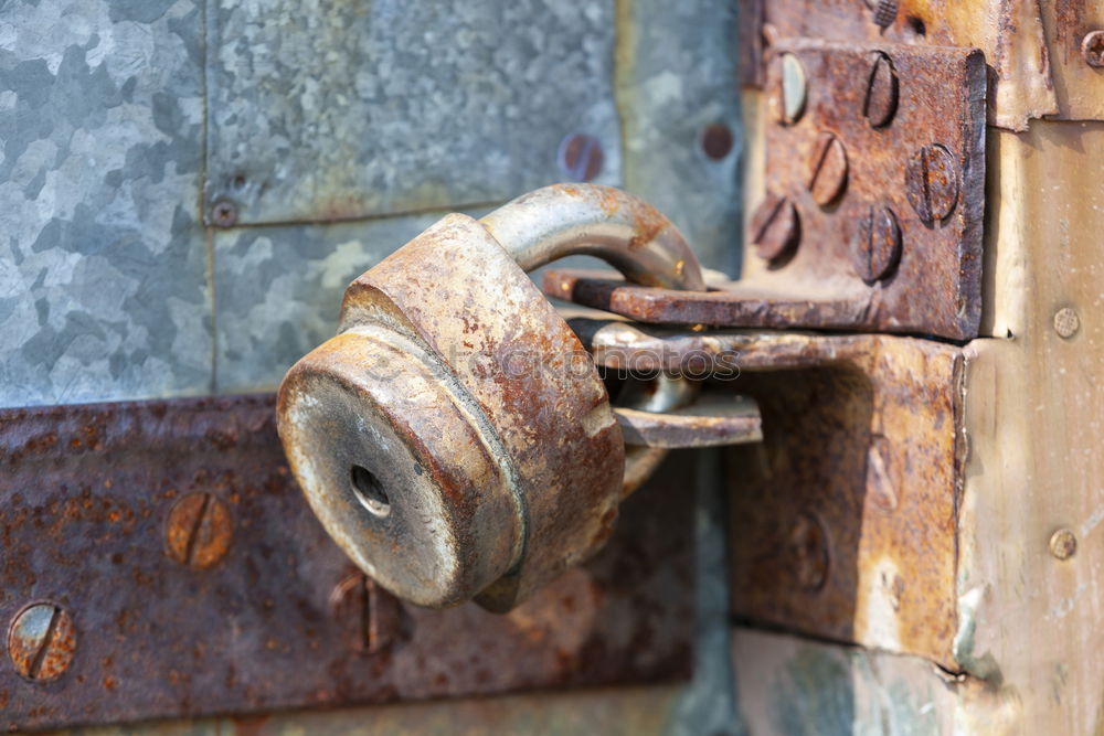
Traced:
[[199, 18], [0, 10], [0, 405], [209, 388]]

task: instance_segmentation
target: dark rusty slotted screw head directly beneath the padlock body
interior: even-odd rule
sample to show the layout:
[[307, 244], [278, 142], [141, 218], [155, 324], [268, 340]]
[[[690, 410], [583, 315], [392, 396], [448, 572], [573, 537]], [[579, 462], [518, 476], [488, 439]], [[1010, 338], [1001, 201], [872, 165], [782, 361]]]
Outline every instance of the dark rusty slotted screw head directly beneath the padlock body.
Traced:
[[330, 610], [353, 651], [375, 654], [402, 636], [402, 604], [359, 570], [333, 587]]

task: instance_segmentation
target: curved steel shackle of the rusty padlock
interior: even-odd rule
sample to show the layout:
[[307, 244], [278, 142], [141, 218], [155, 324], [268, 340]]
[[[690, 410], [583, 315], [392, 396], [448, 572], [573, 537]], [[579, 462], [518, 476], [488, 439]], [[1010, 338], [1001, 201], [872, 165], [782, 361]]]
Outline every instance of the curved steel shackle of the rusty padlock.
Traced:
[[601, 184], [553, 184], [479, 221], [526, 271], [588, 255], [644, 286], [703, 291], [693, 250], [650, 204]]

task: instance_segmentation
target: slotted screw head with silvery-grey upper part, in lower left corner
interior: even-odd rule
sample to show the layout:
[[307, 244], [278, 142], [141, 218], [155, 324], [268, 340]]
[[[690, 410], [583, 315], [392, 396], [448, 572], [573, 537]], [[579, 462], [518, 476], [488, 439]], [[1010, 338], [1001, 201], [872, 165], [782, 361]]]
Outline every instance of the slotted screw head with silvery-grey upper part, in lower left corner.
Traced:
[[20, 676], [50, 682], [62, 676], [76, 651], [73, 618], [50, 602], [28, 606], [8, 629], [8, 657]]

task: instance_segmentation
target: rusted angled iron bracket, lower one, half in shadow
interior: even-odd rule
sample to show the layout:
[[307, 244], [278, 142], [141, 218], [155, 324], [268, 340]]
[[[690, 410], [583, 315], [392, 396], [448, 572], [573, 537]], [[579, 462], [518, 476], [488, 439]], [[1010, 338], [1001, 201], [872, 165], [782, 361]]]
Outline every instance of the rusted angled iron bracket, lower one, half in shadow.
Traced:
[[962, 350], [913, 338], [574, 319], [595, 360], [739, 366], [763, 441], [728, 450], [732, 610], [957, 670]]

